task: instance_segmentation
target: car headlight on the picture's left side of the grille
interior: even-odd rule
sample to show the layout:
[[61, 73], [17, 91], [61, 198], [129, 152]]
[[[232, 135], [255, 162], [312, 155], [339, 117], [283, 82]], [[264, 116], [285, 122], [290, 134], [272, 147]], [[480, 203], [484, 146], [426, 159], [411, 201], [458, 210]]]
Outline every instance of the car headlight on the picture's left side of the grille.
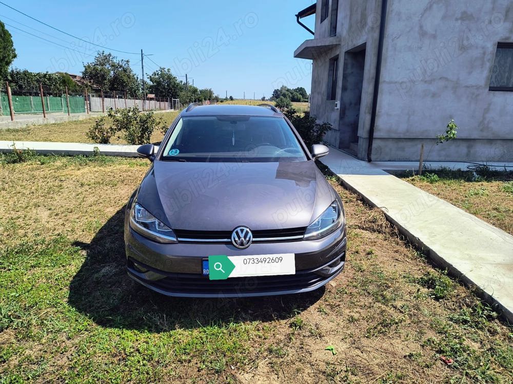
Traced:
[[177, 243], [173, 230], [137, 203], [130, 210], [130, 227], [159, 243]]

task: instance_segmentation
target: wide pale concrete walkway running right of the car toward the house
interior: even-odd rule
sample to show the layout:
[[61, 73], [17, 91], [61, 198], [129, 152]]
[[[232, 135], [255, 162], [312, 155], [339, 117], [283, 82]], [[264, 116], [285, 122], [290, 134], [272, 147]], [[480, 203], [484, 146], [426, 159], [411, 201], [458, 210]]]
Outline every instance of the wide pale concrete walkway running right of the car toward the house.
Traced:
[[[412, 243], [513, 323], [513, 236], [368, 163], [330, 148], [321, 159], [343, 184], [383, 210]], [[388, 168], [388, 167], [387, 167]]]

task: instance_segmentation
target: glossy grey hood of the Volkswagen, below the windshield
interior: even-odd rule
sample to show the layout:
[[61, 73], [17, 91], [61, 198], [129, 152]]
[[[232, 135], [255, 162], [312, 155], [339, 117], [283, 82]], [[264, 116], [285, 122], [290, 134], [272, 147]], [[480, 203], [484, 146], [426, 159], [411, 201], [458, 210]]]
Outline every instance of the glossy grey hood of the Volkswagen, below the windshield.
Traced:
[[155, 161], [137, 201], [173, 229], [308, 226], [334, 200], [313, 161]]

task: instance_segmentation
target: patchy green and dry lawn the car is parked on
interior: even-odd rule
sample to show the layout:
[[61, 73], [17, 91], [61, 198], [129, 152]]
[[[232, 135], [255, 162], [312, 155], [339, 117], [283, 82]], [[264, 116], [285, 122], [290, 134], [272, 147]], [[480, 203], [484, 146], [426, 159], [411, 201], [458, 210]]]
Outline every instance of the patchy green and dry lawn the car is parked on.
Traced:
[[165, 297], [126, 275], [142, 159], [0, 155], [0, 382], [513, 380], [513, 329], [330, 179], [346, 269], [283, 297]]

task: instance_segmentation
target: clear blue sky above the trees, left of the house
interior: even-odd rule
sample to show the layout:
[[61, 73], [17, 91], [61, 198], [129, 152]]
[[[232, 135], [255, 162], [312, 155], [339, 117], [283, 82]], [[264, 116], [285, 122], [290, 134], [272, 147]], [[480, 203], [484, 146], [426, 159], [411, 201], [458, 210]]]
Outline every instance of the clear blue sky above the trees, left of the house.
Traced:
[[[253, 98], [274, 88], [305, 87], [310, 92], [311, 62], [295, 59], [294, 50], [312, 35], [299, 26], [295, 14], [312, 0], [132, 1], [90, 0], [41, 2], [2, 0], [69, 34], [120, 51], [141, 76], [157, 65], [194, 79], [200, 88], [225, 96]], [[122, 7], [119, 4], [123, 4]], [[97, 49], [48, 28], [0, 4], [0, 19], [13, 27], [54, 41], [71, 51], [27, 35], [8, 25], [18, 57], [13, 67], [30, 71], [80, 73]], [[313, 29], [314, 16], [303, 19]], [[19, 24], [22, 23], [22, 24]], [[30, 28], [29, 28], [30, 27]], [[33, 28], [33, 29], [31, 29]], [[37, 31], [35, 31], [35, 30]], [[90, 56], [92, 55], [92, 56]], [[180, 77], [185, 79], [185, 77]], [[192, 82], [192, 80], [190, 80]]]

